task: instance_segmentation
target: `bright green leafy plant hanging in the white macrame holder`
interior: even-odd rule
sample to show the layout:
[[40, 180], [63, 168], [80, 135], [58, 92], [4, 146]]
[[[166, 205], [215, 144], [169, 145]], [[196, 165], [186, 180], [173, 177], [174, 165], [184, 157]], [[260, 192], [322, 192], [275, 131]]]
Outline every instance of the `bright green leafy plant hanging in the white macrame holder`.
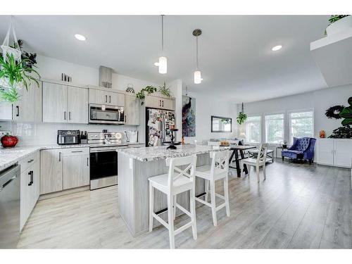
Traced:
[[27, 65], [27, 63], [30, 63], [29, 59], [25, 58], [18, 62], [13, 58], [13, 54], [6, 54], [6, 58], [0, 56], [0, 80], [2, 82], [0, 95], [4, 101], [10, 100], [13, 103], [20, 99], [18, 88], [25, 87], [28, 90], [32, 81], [39, 87], [40, 75], [37, 70], [34, 70], [34, 65]]

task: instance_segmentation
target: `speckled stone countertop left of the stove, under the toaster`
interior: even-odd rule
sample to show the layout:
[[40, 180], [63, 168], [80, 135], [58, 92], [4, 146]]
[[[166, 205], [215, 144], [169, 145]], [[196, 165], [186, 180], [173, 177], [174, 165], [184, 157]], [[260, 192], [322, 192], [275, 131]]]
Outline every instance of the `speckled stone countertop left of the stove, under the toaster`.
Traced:
[[68, 149], [68, 148], [82, 148], [89, 147], [88, 144], [77, 145], [50, 145], [50, 146], [15, 146], [13, 148], [0, 147], [0, 170], [20, 161], [20, 159], [30, 156], [35, 151], [41, 149]]

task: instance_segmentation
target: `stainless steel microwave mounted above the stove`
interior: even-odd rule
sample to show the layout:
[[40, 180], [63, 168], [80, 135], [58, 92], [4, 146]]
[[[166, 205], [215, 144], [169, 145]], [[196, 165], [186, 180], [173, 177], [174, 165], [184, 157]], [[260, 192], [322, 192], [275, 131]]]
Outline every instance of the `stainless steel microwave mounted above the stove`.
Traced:
[[101, 104], [89, 104], [90, 124], [125, 124], [123, 106], [106, 106]]

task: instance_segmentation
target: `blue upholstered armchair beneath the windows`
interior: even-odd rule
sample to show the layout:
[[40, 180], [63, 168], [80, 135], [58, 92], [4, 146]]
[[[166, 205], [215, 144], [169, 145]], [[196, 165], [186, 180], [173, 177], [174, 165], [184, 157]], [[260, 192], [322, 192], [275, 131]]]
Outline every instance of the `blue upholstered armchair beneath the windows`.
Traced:
[[300, 160], [304, 159], [312, 163], [315, 141], [316, 139], [313, 139], [313, 137], [294, 137], [294, 144], [292, 144], [287, 151], [282, 151], [282, 161], [284, 161], [284, 157], [287, 157]]

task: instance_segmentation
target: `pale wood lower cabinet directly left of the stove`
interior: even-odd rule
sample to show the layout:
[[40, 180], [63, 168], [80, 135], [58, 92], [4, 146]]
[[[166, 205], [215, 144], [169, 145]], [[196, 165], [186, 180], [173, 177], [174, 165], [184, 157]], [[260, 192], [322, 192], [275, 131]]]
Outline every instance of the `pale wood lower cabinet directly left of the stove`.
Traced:
[[42, 150], [41, 172], [40, 194], [89, 185], [89, 148]]

